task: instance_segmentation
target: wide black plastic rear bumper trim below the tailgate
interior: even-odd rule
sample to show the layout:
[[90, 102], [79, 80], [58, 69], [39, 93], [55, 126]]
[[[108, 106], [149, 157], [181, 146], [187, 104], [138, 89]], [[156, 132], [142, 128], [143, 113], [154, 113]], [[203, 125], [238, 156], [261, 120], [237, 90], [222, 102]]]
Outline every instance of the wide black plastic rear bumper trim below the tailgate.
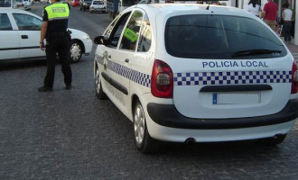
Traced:
[[271, 115], [231, 118], [231, 119], [195, 119], [183, 116], [173, 104], [148, 103], [147, 111], [151, 119], [159, 125], [197, 130], [238, 129], [257, 126], [267, 126], [287, 121], [298, 117], [298, 100], [290, 100], [281, 112]]

